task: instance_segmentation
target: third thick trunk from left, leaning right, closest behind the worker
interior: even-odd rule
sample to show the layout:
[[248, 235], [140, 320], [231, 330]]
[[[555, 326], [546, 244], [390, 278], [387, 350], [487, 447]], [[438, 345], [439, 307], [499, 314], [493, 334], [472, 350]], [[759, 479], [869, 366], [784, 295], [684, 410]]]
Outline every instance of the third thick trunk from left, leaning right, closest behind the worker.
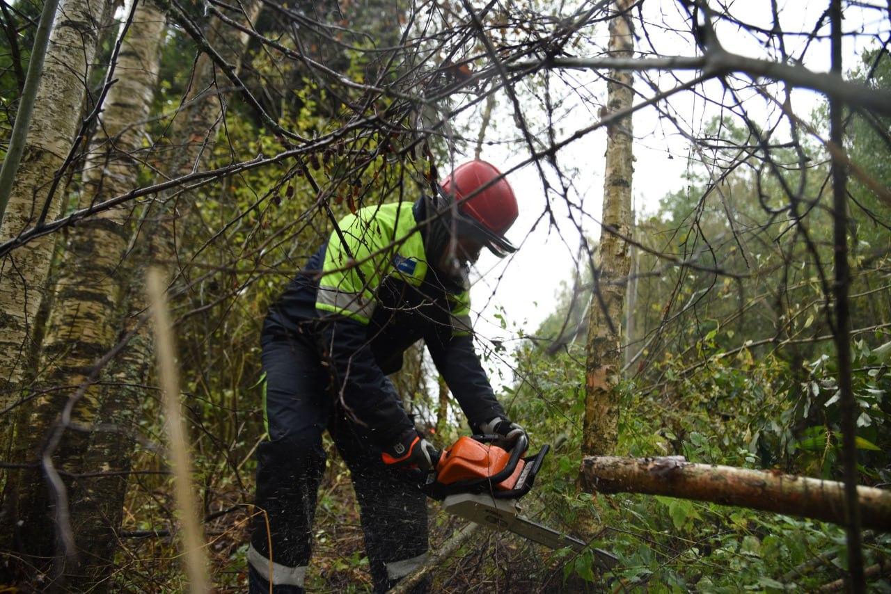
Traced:
[[[244, 4], [249, 19], [257, 19], [260, 4], [251, 0]], [[226, 61], [238, 64], [247, 47], [248, 37], [240, 31], [220, 23], [208, 28], [208, 41]], [[171, 141], [181, 147], [168, 168], [168, 175], [190, 173], [207, 161], [217, 126], [222, 118], [223, 105], [214, 87], [215, 71], [212, 61], [202, 54], [192, 77], [192, 93], [185, 98], [187, 106], [172, 127]], [[216, 73], [217, 77], [219, 73]], [[148, 263], [169, 266], [175, 259], [174, 221], [177, 213], [168, 209], [168, 195], [159, 196], [152, 205], [154, 214], [147, 217], [143, 231], [135, 241], [135, 254], [122, 261], [120, 289], [127, 293], [123, 299], [127, 315], [119, 322], [123, 332], [135, 330], [144, 308], [143, 279]], [[181, 223], [180, 223], [181, 224]], [[118, 252], [120, 255], [120, 252]], [[122, 257], [122, 256], [119, 256]], [[132, 432], [136, 414], [146, 398], [143, 385], [151, 371], [152, 339], [150, 327], [136, 331], [127, 349], [114, 362], [110, 372], [110, 387], [106, 387], [99, 402], [98, 419], [116, 431], [94, 431], [89, 447], [83, 455], [82, 468], [86, 472], [99, 469], [110, 471], [106, 476], [78, 480], [72, 493], [72, 525], [81, 541], [90, 544], [90, 558], [77, 575], [70, 575], [75, 585], [92, 586], [108, 583], [114, 568], [117, 548], [115, 533], [119, 529], [127, 493], [127, 473], [131, 469], [134, 452]], [[95, 543], [95, 544], [92, 544]], [[111, 587], [111, 584], [108, 586]], [[92, 590], [91, 590], [92, 591]]]

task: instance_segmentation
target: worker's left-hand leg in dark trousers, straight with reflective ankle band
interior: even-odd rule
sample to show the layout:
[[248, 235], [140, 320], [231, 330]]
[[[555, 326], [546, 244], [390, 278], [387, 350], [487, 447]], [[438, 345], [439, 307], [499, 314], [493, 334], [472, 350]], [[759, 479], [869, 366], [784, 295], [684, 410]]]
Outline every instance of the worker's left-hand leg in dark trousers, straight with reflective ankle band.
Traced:
[[303, 592], [331, 400], [307, 346], [263, 339], [268, 439], [257, 448], [257, 512], [248, 549], [250, 594]]

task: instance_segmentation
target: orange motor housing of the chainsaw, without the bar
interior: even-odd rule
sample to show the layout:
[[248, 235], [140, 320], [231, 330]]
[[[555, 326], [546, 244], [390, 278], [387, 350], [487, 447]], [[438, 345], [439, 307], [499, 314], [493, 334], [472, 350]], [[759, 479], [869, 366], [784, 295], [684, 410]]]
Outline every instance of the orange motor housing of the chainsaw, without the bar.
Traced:
[[[495, 476], [507, 466], [509, 460], [511, 454], [497, 445], [479, 443], [465, 435], [443, 452], [437, 464], [437, 482], [454, 484], [459, 481]], [[513, 489], [525, 464], [525, 460], [519, 460], [511, 476], [496, 484], [495, 489], [499, 491]]]

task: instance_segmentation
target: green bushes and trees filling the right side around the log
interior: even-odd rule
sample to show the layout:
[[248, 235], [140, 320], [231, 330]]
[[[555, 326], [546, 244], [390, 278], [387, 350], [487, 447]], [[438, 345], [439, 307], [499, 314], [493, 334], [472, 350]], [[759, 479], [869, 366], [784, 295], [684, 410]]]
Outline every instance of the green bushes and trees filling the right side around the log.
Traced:
[[[864, 72], [878, 65], [870, 84], [887, 86], [887, 53], [868, 53], [864, 62], [869, 65]], [[855, 115], [846, 146], [868, 175], [887, 185], [887, 143], [874, 125]], [[887, 129], [887, 122], [882, 126]], [[730, 121], [716, 120], [708, 134], [732, 146], [755, 142], [752, 131]], [[797, 177], [802, 172], [792, 151], [772, 151], [772, 158], [788, 166], [787, 184], [797, 187], [804, 180], [804, 195], [819, 205], [828, 168], [818, 159], [821, 147], [805, 141], [803, 151], [810, 164], [803, 178]], [[711, 157], [728, 154], [715, 150]], [[683, 455], [696, 462], [839, 480], [838, 369], [827, 339], [827, 286], [821, 279], [821, 273], [831, 275], [831, 214], [821, 207], [802, 211], [810, 248], [792, 224], [759, 226], [767, 218], [765, 207], [789, 202], [775, 178], [758, 175], [760, 167], [752, 159], [719, 181], [692, 167], [689, 187], [666, 196], [658, 213], [640, 222], [637, 237], [652, 252], [673, 254], [699, 268], [666, 266], [650, 252], [640, 255], [639, 270], [650, 274], [638, 281], [632, 312], [635, 356], [618, 392], [616, 453]], [[854, 329], [860, 329], [852, 348], [857, 462], [863, 484], [887, 486], [891, 310], [885, 279], [891, 234], [887, 216], [879, 216], [887, 206], [862, 181], [852, 179], [850, 187], [855, 231], [850, 292]], [[709, 268], [739, 272], [740, 279]], [[567, 319], [569, 335], [581, 324], [577, 334], [584, 336], [584, 320], [571, 302], [564, 287], [535, 336], [556, 337]], [[578, 342], [555, 356], [537, 346], [520, 348], [518, 381], [511, 391], [513, 417], [522, 419], [535, 439], [558, 443], [543, 471], [547, 483], [538, 488], [543, 516], [595, 535], [592, 546], [620, 559], [615, 574], [601, 573], [591, 556], [562, 551], [552, 558], [562, 564], [564, 579], [656, 592], [800, 591], [838, 579], [846, 566], [846, 539], [837, 525], [668, 497], [592, 499], [579, 492], [585, 357]], [[867, 565], [891, 552], [887, 535], [866, 533], [865, 538]], [[828, 560], [793, 571], [821, 555]], [[887, 582], [877, 587], [891, 590]]]

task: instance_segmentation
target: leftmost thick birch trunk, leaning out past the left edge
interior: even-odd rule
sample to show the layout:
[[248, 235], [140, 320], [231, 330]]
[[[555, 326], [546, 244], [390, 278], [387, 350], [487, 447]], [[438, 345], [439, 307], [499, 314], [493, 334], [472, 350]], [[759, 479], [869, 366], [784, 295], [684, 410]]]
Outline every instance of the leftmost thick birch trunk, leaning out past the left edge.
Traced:
[[[0, 241], [36, 224], [44, 211], [47, 219], [53, 219], [61, 209], [61, 192], [50, 196], [48, 191], [78, 131], [87, 69], [93, 64], [99, 25], [109, 5], [108, 0], [63, 0], [59, 6]], [[7, 387], [0, 393], [0, 409], [18, 395], [14, 388], [26, 370], [29, 335], [52, 256], [53, 237], [48, 236], [0, 261], [0, 381]]]

